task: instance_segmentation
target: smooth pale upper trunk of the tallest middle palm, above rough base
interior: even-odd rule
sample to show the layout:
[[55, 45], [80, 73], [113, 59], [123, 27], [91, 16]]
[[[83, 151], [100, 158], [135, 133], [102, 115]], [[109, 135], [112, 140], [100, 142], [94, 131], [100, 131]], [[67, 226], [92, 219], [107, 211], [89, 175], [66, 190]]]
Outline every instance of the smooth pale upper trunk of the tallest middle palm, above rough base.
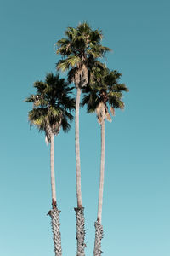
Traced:
[[76, 166], [77, 166], [77, 207], [82, 207], [81, 191], [81, 168], [80, 168], [80, 144], [79, 144], [79, 108], [80, 108], [81, 89], [77, 88], [77, 104], [75, 118], [75, 147], [76, 147]]

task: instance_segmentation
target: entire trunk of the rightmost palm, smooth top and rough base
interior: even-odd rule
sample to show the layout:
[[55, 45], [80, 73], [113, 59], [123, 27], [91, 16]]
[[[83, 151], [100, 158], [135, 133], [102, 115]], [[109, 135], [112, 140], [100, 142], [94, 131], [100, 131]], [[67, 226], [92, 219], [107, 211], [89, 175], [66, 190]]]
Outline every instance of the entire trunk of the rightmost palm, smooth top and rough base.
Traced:
[[[105, 109], [103, 110], [104, 114]], [[103, 115], [104, 117], [104, 115]], [[105, 118], [101, 124], [101, 162], [100, 162], [100, 181], [99, 181], [99, 203], [98, 203], [98, 218], [95, 222], [95, 241], [94, 241], [94, 256], [100, 256], [101, 240], [103, 238], [103, 226], [101, 224], [103, 191], [104, 191], [104, 171], [105, 171]]]

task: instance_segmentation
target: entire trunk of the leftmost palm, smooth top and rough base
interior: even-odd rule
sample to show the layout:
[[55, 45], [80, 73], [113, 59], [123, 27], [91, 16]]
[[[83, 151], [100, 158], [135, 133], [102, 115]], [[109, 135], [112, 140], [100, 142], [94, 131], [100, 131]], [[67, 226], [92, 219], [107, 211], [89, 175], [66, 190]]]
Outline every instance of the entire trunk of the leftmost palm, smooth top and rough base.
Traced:
[[51, 134], [51, 148], [50, 148], [50, 159], [51, 159], [51, 190], [52, 190], [52, 210], [48, 212], [51, 217], [51, 225], [53, 231], [54, 240], [54, 253], [55, 256], [62, 256], [61, 248], [61, 235], [59, 231], [59, 210], [56, 202], [56, 191], [55, 191], [55, 173], [54, 173], [54, 133]]

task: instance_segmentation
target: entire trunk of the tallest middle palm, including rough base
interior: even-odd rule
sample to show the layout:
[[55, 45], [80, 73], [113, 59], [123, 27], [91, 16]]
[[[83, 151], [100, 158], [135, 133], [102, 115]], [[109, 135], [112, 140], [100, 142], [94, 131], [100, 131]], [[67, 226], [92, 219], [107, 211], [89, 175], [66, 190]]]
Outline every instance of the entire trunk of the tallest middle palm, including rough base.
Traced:
[[77, 256], [84, 256], [85, 230], [84, 230], [84, 208], [82, 207], [81, 191], [81, 167], [80, 167], [80, 145], [79, 145], [79, 108], [80, 108], [81, 89], [77, 87], [76, 119], [75, 119], [75, 144], [76, 144], [76, 166], [77, 166]]

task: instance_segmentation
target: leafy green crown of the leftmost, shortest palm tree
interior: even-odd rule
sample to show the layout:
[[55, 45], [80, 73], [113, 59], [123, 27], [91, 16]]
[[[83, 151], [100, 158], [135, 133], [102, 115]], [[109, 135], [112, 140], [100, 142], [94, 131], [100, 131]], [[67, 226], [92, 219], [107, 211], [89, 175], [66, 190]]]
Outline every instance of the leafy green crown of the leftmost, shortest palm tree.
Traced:
[[48, 143], [51, 133], [57, 135], [60, 128], [69, 131], [69, 121], [73, 119], [70, 111], [75, 108], [75, 100], [71, 98], [71, 90], [65, 79], [59, 79], [59, 74], [48, 73], [45, 82], [34, 83], [36, 95], [26, 98], [33, 102], [33, 109], [28, 117], [31, 125], [36, 125], [39, 131], [45, 131]]

